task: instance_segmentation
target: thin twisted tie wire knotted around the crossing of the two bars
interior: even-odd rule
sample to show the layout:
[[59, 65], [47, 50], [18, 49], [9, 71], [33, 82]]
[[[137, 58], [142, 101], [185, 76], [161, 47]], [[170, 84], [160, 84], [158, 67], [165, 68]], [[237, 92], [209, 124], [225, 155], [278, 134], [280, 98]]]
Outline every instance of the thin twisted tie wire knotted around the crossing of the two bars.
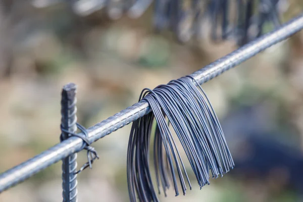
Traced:
[[[84, 147], [82, 149], [85, 149], [87, 151], [87, 162], [85, 164], [83, 164], [83, 166], [81, 166], [81, 168], [75, 172], [75, 174], [79, 174], [81, 173], [84, 169], [86, 169], [87, 167], [89, 167], [90, 169], [92, 169], [92, 163], [96, 160], [99, 159], [99, 156], [97, 154], [97, 151], [95, 150], [95, 148], [93, 146], [91, 146], [90, 141], [88, 140], [88, 132], [86, 130], [86, 128], [84, 128], [82, 125], [80, 125], [79, 123], [76, 123], [77, 128], [79, 130], [81, 130], [81, 132], [83, 132], [85, 134], [85, 136], [79, 135], [77, 133], [68, 131], [66, 129], [63, 128], [63, 126], [61, 125], [61, 131], [71, 134], [72, 136], [76, 136], [81, 138], [86, 144], [84, 144]], [[60, 141], [63, 141], [63, 136], [62, 133], [60, 135]]]

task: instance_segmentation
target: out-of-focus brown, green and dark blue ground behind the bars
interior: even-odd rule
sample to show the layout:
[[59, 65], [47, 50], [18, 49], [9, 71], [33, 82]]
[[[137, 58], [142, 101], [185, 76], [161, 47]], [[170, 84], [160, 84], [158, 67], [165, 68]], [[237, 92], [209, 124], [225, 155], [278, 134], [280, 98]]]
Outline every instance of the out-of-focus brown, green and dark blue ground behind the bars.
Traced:
[[[15, 2], [3, 1], [0, 13], [1, 172], [59, 142], [64, 84], [78, 85], [78, 122], [89, 127], [136, 103], [144, 87], [190, 74], [236, 48], [207, 39], [181, 45], [170, 33], [154, 33], [150, 12], [110, 21], [78, 17], [62, 4]], [[298, 3], [290, 1], [284, 21], [300, 13]], [[302, 201], [302, 55], [300, 32], [203, 85], [239, 166], [210, 186], [162, 201]], [[129, 131], [130, 125], [93, 144], [100, 160], [79, 175], [79, 201], [128, 201]], [[61, 183], [58, 163], [0, 201], [59, 201]]]

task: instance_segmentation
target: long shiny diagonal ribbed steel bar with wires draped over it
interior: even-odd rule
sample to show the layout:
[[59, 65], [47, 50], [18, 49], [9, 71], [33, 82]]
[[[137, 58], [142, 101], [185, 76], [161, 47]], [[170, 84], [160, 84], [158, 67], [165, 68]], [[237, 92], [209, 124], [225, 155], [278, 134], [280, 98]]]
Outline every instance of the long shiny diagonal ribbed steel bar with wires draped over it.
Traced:
[[[262, 37], [247, 43], [231, 54], [211, 63], [203, 69], [200, 69], [190, 76], [194, 77], [199, 84], [222, 74], [240, 63], [248, 60], [256, 54], [264, 51], [266, 48], [285, 40], [292, 34], [303, 28], [303, 15], [292, 19], [275, 31], [263, 35]], [[134, 104], [125, 110], [115, 114], [112, 117], [88, 128], [89, 140], [96, 141], [123, 126], [137, 120], [149, 113], [148, 104], [144, 101]], [[84, 135], [84, 134], [82, 134]], [[43, 151], [41, 154], [21, 163], [18, 166], [2, 173], [0, 175], [0, 192], [11, 186], [22, 182], [31, 175], [42, 169], [66, 158], [67, 156], [81, 150], [83, 141], [77, 137], [70, 137], [63, 142]]]

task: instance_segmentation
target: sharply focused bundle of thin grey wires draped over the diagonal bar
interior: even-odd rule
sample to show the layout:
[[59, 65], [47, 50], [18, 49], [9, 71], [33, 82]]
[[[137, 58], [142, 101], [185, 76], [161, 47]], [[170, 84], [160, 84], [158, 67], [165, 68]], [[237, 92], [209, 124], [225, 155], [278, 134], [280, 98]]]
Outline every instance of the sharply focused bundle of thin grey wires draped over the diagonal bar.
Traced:
[[[131, 128], [127, 151], [127, 179], [130, 201], [159, 201], [150, 173], [149, 152], [154, 153], [154, 168], [158, 192], [166, 195], [170, 178], [176, 196], [179, 195], [176, 173], [182, 192], [186, 181], [191, 183], [177, 148], [177, 141], [169, 129], [174, 129], [196, 177], [198, 185], [210, 184], [213, 178], [227, 173], [234, 162], [226, 140], [204, 90], [187, 76], [160, 85], [154, 90], [143, 89], [140, 98], [148, 102], [152, 113], [136, 120]], [[153, 129], [156, 120], [156, 129]], [[154, 133], [154, 137], [152, 137]], [[151, 140], [153, 138], [153, 141]], [[153, 147], [150, 147], [153, 144]], [[185, 176], [185, 177], [184, 177]]]

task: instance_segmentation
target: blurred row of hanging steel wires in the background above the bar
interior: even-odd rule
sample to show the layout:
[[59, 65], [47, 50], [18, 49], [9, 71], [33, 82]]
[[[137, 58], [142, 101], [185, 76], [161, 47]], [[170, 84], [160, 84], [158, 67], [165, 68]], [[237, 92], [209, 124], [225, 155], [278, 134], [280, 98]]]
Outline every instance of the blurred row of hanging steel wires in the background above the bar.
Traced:
[[[235, 40], [243, 45], [259, 37], [268, 26], [280, 25], [280, 13], [287, 0], [76, 0], [70, 1], [79, 15], [90, 15], [106, 9], [117, 19], [123, 13], [140, 17], [154, 5], [156, 30], [171, 30], [181, 42], [199, 37], [205, 32], [205, 22], [211, 27], [211, 38]], [[281, 6], [282, 5], [282, 6]]]

